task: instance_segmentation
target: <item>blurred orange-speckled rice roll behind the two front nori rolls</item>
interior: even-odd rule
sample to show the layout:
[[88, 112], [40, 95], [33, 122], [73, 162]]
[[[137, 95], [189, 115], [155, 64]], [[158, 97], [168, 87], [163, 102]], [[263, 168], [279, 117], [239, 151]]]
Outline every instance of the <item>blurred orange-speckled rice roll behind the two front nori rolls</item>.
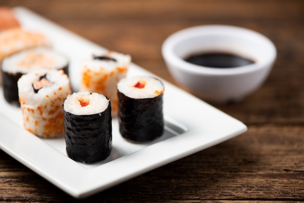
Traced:
[[97, 92], [107, 96], [112, 104], [112, 115], [118, 112], [117, 83], [127, 74], [131, 56], [108, 51], [93, 56], [82, 66], [80, 91]]

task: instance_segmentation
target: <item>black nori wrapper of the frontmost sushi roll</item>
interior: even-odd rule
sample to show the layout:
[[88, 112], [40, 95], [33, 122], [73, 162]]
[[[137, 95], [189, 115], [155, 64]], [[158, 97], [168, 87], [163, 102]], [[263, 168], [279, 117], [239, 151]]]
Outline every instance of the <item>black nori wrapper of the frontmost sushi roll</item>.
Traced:
[[74, 115], [64, 111], [68, 157], [83, 163], [106, 159], [112, 150], [111, 102], [106, 110], [93, 115]]

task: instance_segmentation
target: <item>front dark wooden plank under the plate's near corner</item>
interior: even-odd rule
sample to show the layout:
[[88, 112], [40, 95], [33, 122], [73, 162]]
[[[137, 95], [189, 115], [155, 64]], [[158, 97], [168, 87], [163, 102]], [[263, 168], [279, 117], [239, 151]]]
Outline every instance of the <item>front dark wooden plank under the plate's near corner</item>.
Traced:
[[[300, 201], [304, 197], [303, 131], [295, 126], [252, 126], [243, 135], [83, 201]], [[21, 200], [22, 194], [43, 202], [71, 200], [4, 152], [0, 155], [2, 200]]]

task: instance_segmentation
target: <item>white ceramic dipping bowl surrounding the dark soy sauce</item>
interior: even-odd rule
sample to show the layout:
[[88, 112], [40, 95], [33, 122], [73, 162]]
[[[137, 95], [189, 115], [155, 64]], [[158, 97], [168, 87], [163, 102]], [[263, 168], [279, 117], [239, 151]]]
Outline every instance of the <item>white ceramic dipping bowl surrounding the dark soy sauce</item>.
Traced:
[[[255, 61], [236, 68], [209, 68], [184, 59], [195, 53], [228, 52]], [[207, 101], [240, 101], [267, 79], [276, 48], [264, 35], [227, 25], [203, 25], [170, 35], [162, 54], [173, 79], [190, 93]]]

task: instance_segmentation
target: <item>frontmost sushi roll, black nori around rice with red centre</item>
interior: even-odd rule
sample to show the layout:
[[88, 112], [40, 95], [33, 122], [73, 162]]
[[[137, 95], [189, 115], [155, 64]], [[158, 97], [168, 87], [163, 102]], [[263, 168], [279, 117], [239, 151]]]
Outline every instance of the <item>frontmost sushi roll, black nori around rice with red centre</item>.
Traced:
[[106, 159], [112, 150], [110, 100], [98, 93], [75, 92], [63, 103], [68, 157], [82, 163]]

